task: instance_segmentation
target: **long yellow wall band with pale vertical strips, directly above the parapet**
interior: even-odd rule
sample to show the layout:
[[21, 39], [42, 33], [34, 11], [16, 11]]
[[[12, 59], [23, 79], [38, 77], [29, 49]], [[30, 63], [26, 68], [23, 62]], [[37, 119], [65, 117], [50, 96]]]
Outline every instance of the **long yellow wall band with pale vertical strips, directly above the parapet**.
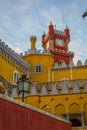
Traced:
[[34, 81], [38, 81], [40, 83], [55, 82], [55, 81], [60, 81], [63, 78], [67, 78], [69, 80], [86, 79], [87, 67], [86, 68], [84, 67], [73, 68], [72, 73], [71, 73], [70, 68], [60, 69], [60, 70], [48, 69], [41, 73], [33, 73], [31, 76], [31, 82], [34, 82]]

